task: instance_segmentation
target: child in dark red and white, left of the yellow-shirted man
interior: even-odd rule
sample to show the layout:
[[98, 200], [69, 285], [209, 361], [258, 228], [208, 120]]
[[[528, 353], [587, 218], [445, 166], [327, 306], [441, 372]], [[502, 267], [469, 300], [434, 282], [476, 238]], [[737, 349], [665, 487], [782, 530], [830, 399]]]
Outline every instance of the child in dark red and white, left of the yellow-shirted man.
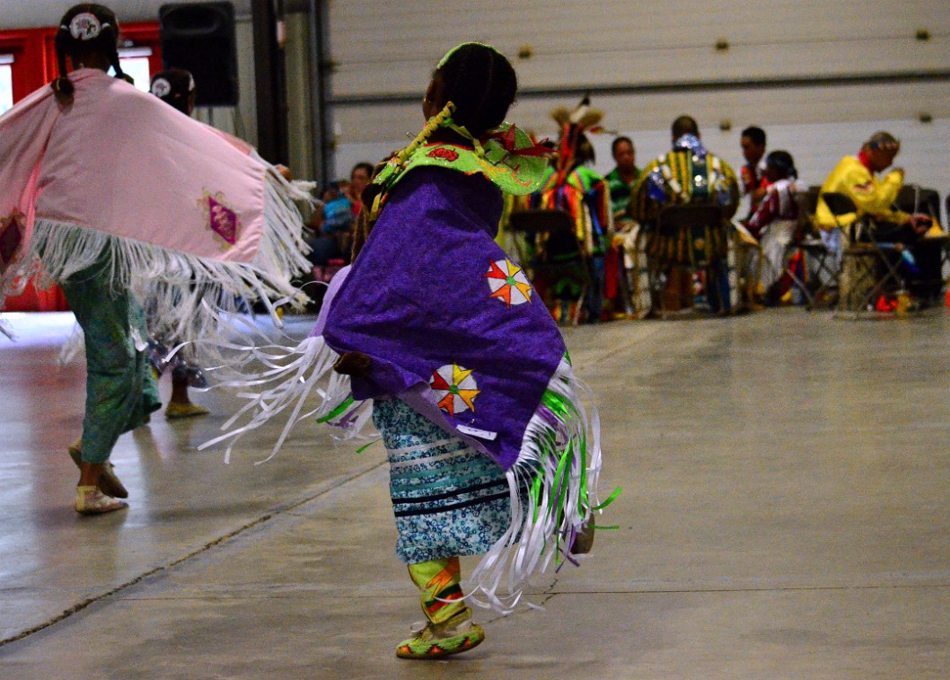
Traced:
[[795, 161], [788, 151], [772, 151], [766, 157], [765, 179], [769, 188], [747, 226], [762, 248], [759, 281], [767, 302], [775, 304], [785, 293], [781, 288], [786, 286], [780, 283], [785, 273], [785, 252], [798, 229], [795, 194], [807, 191], [807, 187], [798, 180]]

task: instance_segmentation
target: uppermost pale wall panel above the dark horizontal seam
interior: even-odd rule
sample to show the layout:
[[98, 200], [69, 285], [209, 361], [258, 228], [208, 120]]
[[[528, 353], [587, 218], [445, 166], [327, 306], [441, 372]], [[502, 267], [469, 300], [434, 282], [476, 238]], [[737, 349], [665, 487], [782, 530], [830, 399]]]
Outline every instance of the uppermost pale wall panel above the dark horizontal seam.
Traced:
[[[950, 67], [946, 0], [334, 0], [330, 9], [335, 97], [418, 92], [448, 47], [473, 39], [512, 58], [530, 46], [516, 63], [528, 88]], [[919, 29], [931, 39], [917, 40]], [[715, 50], [720, 40], [729, 50]]]

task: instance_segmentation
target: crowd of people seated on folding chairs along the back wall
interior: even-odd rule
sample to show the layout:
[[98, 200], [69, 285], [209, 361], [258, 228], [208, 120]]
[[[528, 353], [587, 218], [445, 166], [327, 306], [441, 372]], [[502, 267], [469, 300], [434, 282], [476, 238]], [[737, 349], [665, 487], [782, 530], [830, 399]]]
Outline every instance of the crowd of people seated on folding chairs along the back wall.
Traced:
[[[808, 257], [795, 251], [808, 229], [824, 241], [831, 270], [846, 268], [841, 255], [853, 240], [899, 244], [893, 256], [901, 258], [897, 265], [901, 276], [883, 289], [878, 310], [894, 309], [894, 298], [901, 293], [909, 292], [921, 306], [932, 304], [942, 293], [946, 239], [934, 237], [939, 224], [933, 213], [896, 207], [903, 171], [893, 168], [882, 174], [900, 150], [890, 134], [872, 135], [857, 155], [846, 156], [831, 170], [820, 190], [811, 187], [819, 196], [811, 215], [803, 209], [808, 187], [798, 178], [792, 155], [786, 150], [767, 153], [766, 133], [758, 126], [741, 133], [744, 162], [738, 176], [727, 161], [706, 148], [695, 120], [680, 116], [671, 126], [671, 149], [642, 170], [637, 167], [634, 141], [618, 136], [611, 146], [615, 167], [601, 177], [590, 167], [595, 158], [588, 138], [601, 115], [586, 100], [574, 111], [559, 109], [553, 114], [561, 137], [556, 146], [552, 144], [542, 188], [523, 203], [508, 201], [499, 234], [500, 244], [510, 250], [515, 235], [506, 225], [512, 210], [554, 210], [569, 217], [569, 230], [517, 236], [527, 245], [517, 255], [533, 274], [540, 299], [560, 323], [629, 316], [629, 276], [637, 253], [659, 262], [659, 289], [651, 293], [662, 298], [653, 304], [667, 311], [693, 308], [699, 301], [710, 312], [734, 311], [731, 287], [736, 282], [730, 279], [730, 269], [754, 273], [749, 275], [755, 303], [776, 306], [804, 299], [793, 294], [795, 287], [807, 285], [809, 276], [816, 286], [819, 283], [817, 274], [808, 271]], [[329, 280], [350, 262], [360, 196], [372, 171], [370, 163], [357, 163], [349, 181], [324, 191], [324, 206], [314, 212], [311, 222], [310, 258], [318, 280]], [[832, 214], [821, 198], [829, 193], [849, 198], [854, 212]], [[748, 198], [748, 212], [735, 217], [743, 198]], [[722, 223], [685, 236], [682, 231], [659, 229], [660, 214], [675, 205], [716, 206]], [[755, 247], [735, 249], [730, 262], [737, 234]], [[750, 261], [737, 261], [743, 257]]]

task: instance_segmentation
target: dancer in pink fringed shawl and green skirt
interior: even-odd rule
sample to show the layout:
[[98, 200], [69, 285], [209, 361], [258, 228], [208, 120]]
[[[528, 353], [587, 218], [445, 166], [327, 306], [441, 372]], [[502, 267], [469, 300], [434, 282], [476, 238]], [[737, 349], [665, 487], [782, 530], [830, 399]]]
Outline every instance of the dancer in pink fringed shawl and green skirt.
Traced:
[[60, 76], [0, 118], [0, 303], [33, 276], [59, 282], [85, 333], [85, 420], [70, 447], [84, 514], [125, 507], [109, 455], [160, 406], [136, 293], [165, 282], [156, 308], [191, 339], [239, 297], [293, 294], [288, 274], [306, 268], [290, 185], [130, 85], [118, 36], [110, 9], [69, 9]]

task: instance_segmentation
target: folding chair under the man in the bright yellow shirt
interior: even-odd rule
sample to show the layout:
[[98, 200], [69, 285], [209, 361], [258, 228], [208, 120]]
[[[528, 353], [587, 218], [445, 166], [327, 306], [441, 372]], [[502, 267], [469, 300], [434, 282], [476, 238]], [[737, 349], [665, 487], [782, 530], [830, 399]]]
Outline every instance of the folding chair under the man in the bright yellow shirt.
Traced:
[[[858, 212], [854, 201], [838, 192], [822, 194], [835, 222], [844, 230], [839, 218]], [[874, 239], [873, 230], [858, 218], [845, 231], [847, 241], [842, 251], [842, 284], [838, 298], [838, 312], [859, 315], [872, 306], [877, 296], [894, 282], [902, 286], [900, 253], [903, 245]], [[881, 263], [879, 275], [878, 263]], [[873, 307], [871, 308], [873, 309]]]

